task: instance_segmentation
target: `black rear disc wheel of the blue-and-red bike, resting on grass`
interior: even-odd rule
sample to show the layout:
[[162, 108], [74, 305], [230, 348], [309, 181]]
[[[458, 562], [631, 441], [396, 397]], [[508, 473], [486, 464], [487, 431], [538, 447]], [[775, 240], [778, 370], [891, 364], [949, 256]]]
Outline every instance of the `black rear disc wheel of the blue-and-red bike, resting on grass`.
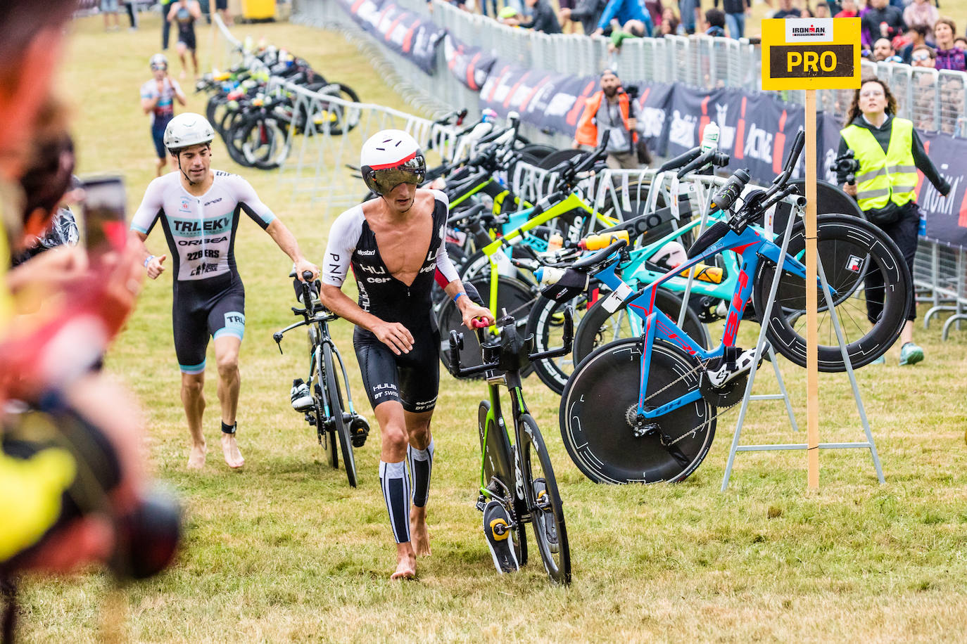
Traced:
[[[637, 422], [642, 342], [619, 340], [578, 365], [561, 397], [561, 435], [577, 468], [595, 483], [678, 482], [708, 454], [716, 407], [696, 400]], [[654, 344], [645, 387], [647, 408], [699, 389], [698, 361], [683, 350]]]

